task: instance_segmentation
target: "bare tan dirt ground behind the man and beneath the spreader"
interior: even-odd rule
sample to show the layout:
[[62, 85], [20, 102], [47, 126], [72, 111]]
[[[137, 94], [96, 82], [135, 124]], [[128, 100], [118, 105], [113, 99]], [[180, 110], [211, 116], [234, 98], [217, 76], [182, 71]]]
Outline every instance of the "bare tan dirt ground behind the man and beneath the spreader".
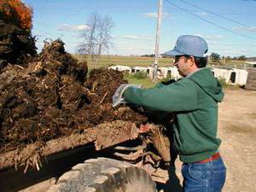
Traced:
[[[224, 102], [219, 104], [218, 137], [222, 139], [220, 154], [227, 167], [224, 192], [256, 191], [256, 91], [224, 90]], [[182, 162], [176, 160], [179, 183]], [[159, 171], [161, 183], [167, 172]], [[174, 177], [172, 178], [174, 179]], [[174, 180], [173, 180], [174, 181]], [[178, 184], [171, 181], [171, 188], [160, 184], [160, 191], [179, 192]], [[170, 185], [169, 185], [170, 186]]]

